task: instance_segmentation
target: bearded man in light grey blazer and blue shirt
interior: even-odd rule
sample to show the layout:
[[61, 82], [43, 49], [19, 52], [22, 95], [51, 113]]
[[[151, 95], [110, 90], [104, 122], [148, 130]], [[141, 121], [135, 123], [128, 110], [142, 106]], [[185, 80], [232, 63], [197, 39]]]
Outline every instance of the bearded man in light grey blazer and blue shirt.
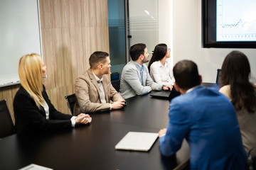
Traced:
[[120, 81], [120, 94], [123, 98], [149, 93], [151, 90], [171, 90], [172, 86], [156, 84], [149, 75], [146, 62], [149, 62], [149, 53], [146, 45], [139, 43], [130, 48], [132, 61], [128, 62], [122, 70]]

